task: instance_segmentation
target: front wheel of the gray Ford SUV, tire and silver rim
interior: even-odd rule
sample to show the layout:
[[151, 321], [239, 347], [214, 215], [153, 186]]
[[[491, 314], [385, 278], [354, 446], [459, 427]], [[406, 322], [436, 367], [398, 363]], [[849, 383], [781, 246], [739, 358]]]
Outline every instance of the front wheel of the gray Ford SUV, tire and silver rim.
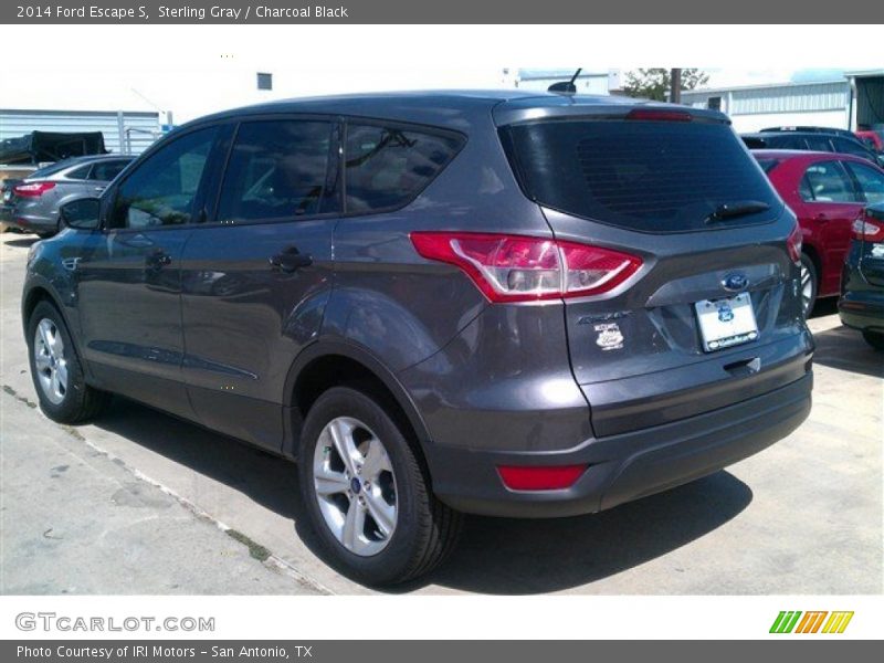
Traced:
[[53, 421], [78, 423], [107, 407], [110, 394], [86, 385], [67, 325], [46, 301], [28, 320], [28, 357], [40, 409]]

